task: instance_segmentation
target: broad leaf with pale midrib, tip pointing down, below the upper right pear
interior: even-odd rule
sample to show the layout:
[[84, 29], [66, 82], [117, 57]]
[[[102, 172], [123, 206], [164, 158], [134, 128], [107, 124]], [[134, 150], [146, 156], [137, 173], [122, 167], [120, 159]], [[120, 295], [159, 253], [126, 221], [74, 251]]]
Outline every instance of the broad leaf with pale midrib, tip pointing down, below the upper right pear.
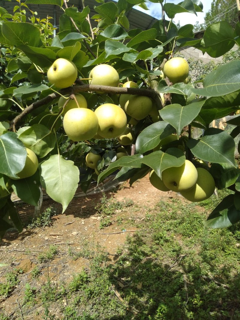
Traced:
[[182, 128], [196, 118], [203, 104], [204, 101], [194, 102], [187, 106], [175, 103], [165, 106], [159, 114], [164, 121], [169, 122], [176, 129], [177, 135], [180, 135]]

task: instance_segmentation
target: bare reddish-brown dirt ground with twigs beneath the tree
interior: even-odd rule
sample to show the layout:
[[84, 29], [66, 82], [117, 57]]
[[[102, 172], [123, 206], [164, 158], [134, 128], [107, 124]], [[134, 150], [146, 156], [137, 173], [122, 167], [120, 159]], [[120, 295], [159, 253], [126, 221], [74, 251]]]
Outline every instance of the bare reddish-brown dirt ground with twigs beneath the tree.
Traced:
[[[127, 182], [119, 185], [117, 188], [106, 193], [107, 197], [114, 197], [118, 201], [132, 199], [135, 204], [134, 210], [117, 210], [111, 216], [111, 225], [100, 228], [100, 213], [95, 209], [99, 203], [102, 193], [84, 197], [74, 197], [68, 205], [67, 210], [53, 217], [52, 226], [29, 229], [24, 228], [22, 233], [9, 231], [4, 236], [0, 246], [0, 262], [7, 266], [0, 269], [0, 282], [4, 281], [4, 275], [11, 268], [21, 268], [23, 274], [21, 281], [8, 299], [0, 300], [1, 308], [7, 315], [10, 315], [18, 308], [18, 301], [24, 294], [25, 284], [31, 279], [31, 271], [36, 267], [39, 261], [39, 254], [46, 252], [50, 245], [57, 245], [60, 249], [57, 258], [52, 261], [41, 264], [41, 274], [36, 280], [36, 287], [41, 286], [50, 277], [52, 282], [68, 282], [68, 279], [82, 268], [87, 267], [88, 260], [78, 258], [76, 260], [69, 257], [69, 247], [74, 252], [83, 249], [83, 243], [97, 243], [106, 248], [109, 253], [110, 263], [114, 263], [118, 258], [116, 251], [119, 245], [124, 245], [126, 235], [133, 235], [137, 228], [131, 226], [129, 221], [143, 221], [149, 207], [153, 207], [161, 199], [179, 196], [174, 192], [162, 192], [154, 188], [148, 179], [148, 176], [136, 181], [130, 188]], [[34, 207], [28, 204], [17, 204], [23, 221], [31, 220]], [[53, 206], [61, 212], [61, 205], [51, 199], [44, 200], [42, 209]], [[118, 217], [123, 221], [128, 221], [127, 229], [123, 232], [124, 222], [121, 225], [116, 223]], [[134, 225], [134, 223], [133, 223]], [[0, 309], [1, 309], [0, 308]], [[31, 318], [31, 316], [27, 317]], [[16, 319], [13, 316], [12, 319]], [[37, 319], [37, 318], [35, 318]], [[42, 319], [40, 316], [39, 319]]]

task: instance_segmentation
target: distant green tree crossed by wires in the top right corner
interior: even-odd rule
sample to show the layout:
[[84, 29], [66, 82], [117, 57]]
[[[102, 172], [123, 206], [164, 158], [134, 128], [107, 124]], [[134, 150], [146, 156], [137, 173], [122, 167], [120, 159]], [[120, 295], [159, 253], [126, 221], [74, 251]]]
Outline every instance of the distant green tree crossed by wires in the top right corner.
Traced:
[[205, 15], [205, 27], [213, 22], [227, 20], [232, 27], [238, 21], [236, 0], [212, 0], [211, 9]]

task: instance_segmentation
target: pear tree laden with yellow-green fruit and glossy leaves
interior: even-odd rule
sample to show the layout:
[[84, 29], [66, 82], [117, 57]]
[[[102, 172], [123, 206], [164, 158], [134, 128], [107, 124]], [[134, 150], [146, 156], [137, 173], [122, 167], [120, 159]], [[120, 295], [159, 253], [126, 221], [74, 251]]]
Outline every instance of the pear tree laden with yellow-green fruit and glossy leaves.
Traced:
[[[36, 207], [44, 188], [64, 212], [78, 186], [87, 192], [113, 172], [130, 185], [150, 173], [156, 188], [190, 201], [229, 189], [206, 226], [240, 221], [240, 60], [207, 74], [199, 88], [176, 56], [185, 46], [222, 56], [240, 46], [240, 23], [218, 21], [195, 38], [193, 25], [178, 28], [173, 19], [202, 12], [201, 1], [149, 1], [160, 4], [162, 19], [148, 30], [129, 29], [128, 12], [142, 0], [97, 0], [93, 16], [66, 0], [16, 1], [13, 14], [0, 7], [0, 238], [23, 228], [12, 192]], [[59, 30], [28, 4], [62, 8]], [[228, 115], [236, 115], [231, 132], [211, 127]], [[132, 148], [119, 142], [125, 130]]]

